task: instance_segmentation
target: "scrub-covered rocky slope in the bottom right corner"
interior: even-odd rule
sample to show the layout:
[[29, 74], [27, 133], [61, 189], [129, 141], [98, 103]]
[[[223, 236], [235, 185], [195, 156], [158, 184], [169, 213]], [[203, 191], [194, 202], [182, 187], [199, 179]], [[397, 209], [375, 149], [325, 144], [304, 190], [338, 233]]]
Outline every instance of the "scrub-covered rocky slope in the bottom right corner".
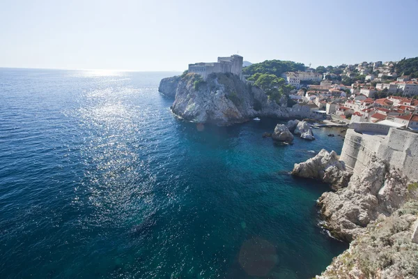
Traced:
[[411, 238], [417, 218], [416, 200], [380, 216], [316, 278], [418, 278], [418, 244]]

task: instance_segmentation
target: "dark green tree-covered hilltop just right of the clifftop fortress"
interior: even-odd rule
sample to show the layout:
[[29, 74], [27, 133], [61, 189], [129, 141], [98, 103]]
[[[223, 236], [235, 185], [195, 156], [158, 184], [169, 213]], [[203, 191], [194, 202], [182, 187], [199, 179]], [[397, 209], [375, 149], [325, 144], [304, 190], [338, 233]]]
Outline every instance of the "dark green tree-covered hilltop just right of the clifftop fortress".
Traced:
[[307, 67], [303, 63], [293, 61], [266, 60], [261, 63], [254, 63], [242, 69], [244, 75], [254, 75], [255, 73], [272, 74], [280, 77], [285, 72], [296, 72], [305, 70]]

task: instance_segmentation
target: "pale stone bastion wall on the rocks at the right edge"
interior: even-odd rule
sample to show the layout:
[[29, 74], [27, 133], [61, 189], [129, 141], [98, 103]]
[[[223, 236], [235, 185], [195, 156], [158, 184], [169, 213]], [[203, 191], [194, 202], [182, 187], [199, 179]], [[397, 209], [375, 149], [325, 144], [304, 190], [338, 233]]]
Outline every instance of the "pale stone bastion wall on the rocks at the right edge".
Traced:
[[351, 123], [340, 160], [359, 174], [373, 158], [386, 160], [408, 179], [418, 180], [418, 133], [379, 123]]

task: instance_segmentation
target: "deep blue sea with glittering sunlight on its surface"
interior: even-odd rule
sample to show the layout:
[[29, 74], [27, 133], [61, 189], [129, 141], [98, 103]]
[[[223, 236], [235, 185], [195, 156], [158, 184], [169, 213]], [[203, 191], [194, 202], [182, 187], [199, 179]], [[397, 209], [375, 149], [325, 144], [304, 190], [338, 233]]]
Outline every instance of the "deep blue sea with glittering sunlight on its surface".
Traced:
[[339, 130], [197, 127], [157, 91], [174, 74], [0, 69], [0, 278], [311, 278], [347, 248], [329, 188], [288, 175]]

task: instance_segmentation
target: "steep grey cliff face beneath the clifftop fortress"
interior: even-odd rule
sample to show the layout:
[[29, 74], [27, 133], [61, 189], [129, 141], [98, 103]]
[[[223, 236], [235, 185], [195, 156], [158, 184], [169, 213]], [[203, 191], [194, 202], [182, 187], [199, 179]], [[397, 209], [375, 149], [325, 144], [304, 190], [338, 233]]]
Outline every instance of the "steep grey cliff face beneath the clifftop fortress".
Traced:
[[[171, 90], [166, 94], [172, 96], [174, 83], [164, 79], [160, 88]], [[202, 80], [200, 75], [189, 73], [178, 81], [175, 95], [171, 106], [173, 113], [198, 123], [226, 126], [256, 116], [289, 116], [285, 96], [277, 104], [263, 90], [248, 86], [238, 76], [229, 73], [212, 74], [206, 80]]]

